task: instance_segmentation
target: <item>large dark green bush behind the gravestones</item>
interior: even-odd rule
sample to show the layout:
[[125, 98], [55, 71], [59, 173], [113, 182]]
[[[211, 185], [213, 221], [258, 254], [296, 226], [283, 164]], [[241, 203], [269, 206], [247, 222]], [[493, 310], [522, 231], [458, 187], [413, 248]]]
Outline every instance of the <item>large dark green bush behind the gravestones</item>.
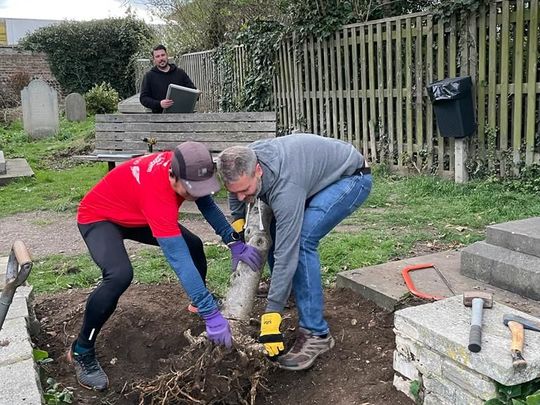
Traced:
[[47, 54], [51, 71], [64, 90], [85, 93], [107, 82], [122, 98], [135, 93], [133, 59], [150, 48], [153, 31], [132, 17], [65, 21], [42, 27], [21, 46]]

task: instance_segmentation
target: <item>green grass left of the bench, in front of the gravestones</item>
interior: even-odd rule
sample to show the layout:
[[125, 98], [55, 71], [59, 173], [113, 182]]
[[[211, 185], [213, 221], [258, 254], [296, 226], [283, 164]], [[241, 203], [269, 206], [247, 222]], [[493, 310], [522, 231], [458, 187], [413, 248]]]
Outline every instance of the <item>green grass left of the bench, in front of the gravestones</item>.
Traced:
[[20, 121], [0, 128], [0, 150], [6, 158], [25, 158], [35, 177], [0, 187], [0, 217], [34, 210], [74, 211], [84, 194], [107, 173], [102, 163], [75, 164], [66, 157], [91, 147], [94, 119], [62, 120], [49, 138], [30, 140]]

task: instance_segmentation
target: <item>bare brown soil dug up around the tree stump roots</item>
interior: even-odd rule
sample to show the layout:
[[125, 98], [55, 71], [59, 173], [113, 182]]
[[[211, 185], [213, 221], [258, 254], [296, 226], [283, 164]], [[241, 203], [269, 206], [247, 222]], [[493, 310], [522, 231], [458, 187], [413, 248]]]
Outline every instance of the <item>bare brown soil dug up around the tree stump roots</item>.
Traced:
[[[46, 366], [46, 371], [61, 384], [73, 387], [77, 404], [151, 403], [152, 395], [141, 393], [152, 394], [152, 389], [170, 383], [172, 378], [176, 379], [173, 386], [177, 398], [187, 398], [187, 394], [194, 400], [169, 398], [164, 402], [168, 404], [197, 403], [196, 398], [202, 398], [200, 403], [212, 403], [208, 398], [217, 400], [227, 390], [231, 395], [214, 403], [242, 403], [242, 398], [250, 398], [254, 382], [258, 405], [412, 404], [392, 386], [392, 314], [341, 289], [326, 290], [326, 315], [336, 347], [310, 370], [289, 372], [266, 361], [261, 363], [265, 368], [261, 368], [234, 350], [206, 345], [190, 353], [187, 348], [192, 346], [184, 332], [190, 329], [193, 336], [198, 336], [204, 324], [186, 310], [188, 300], [180, 287], [133, 285], [120, 299], [98, 339], [98, 357], [109, 375], [111, 388], [106, 393], [88, 391], [77, 385], [64, 355], [78, 333], [89, 292], [73, 290], [36, 299], [36, 313], [42, 323], [36, 345], [55, 360]], [[264, 300], [257, 302], [254, 316], [258, 317], [263, 305]], [[295, 317], [294, 310], [287, 310], [284, 316], [283, 330], [289, 340], [294, 335]], [[256, 336], [257, 326], [253, 325], [248, 333]], [[203, 352], [207, 352], [205, 359], [193, 357]], [[189, 368], [192, 370], [186, 371]], [[199, 380], [193, 377], [196, 375]], [[208, 395], [200, 396], [203, 391]], [[155, 391], [154, 399], [159, 392]]]

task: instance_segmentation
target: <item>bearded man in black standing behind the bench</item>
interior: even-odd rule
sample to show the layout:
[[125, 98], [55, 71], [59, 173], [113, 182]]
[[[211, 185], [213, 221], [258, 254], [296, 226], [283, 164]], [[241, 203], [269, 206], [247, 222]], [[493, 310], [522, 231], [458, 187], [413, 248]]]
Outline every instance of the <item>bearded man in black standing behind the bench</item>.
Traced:
[[169, 63], [167, 49], [163, 45], [157, 45], [152, 50], [152, 62], [154, 67], [144, 75], [139, 100], [153, 113], [161, 113], [174, 103], [173, 100], [166, 98], [169, 84], [178, 84], [191, 89], [196, 87], [186, 72]]

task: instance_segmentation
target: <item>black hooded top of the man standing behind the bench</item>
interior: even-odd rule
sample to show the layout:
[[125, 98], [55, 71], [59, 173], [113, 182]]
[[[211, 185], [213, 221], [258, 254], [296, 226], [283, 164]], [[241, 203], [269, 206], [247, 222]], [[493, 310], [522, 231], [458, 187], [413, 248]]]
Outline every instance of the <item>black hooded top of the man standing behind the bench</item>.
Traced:
[[160, 102], [167, 96], [169, 84], [178, 84], [191, 89], [196, 88], [186, 72], [172, 63], [169, 66], [168, 72], [163, 72], [154, 66], [144, 75], [139, 100], [153, 113], [163, 112]]

